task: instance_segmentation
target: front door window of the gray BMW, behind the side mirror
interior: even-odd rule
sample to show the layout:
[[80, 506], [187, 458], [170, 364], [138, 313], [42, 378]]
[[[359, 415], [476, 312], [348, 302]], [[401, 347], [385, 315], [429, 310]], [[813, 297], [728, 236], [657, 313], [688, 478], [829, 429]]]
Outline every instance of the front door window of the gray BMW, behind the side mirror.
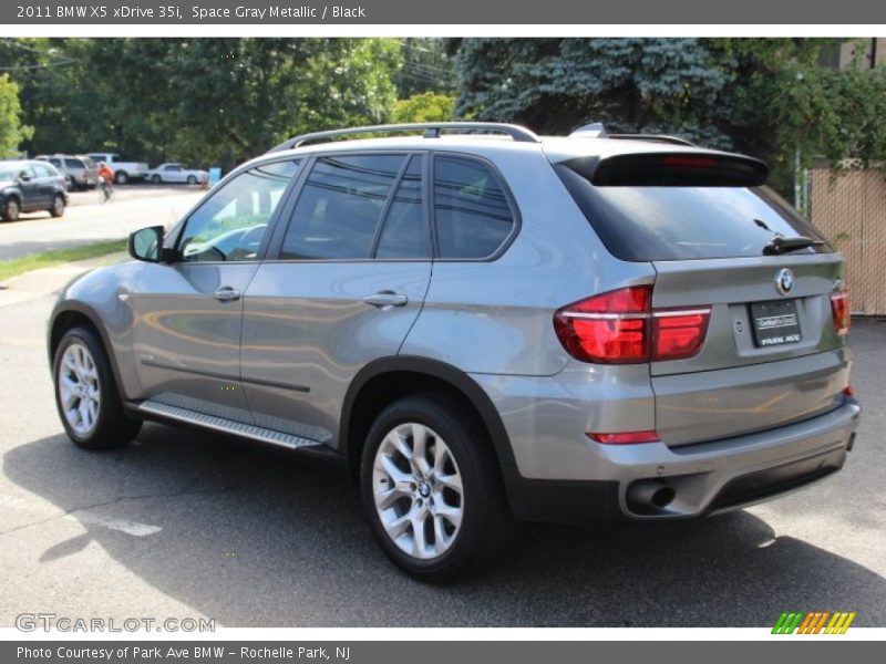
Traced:
[[255, 260], [298, 162], [264, 164], [213, 193], [185, 222], [178, 250], [187, 261]]

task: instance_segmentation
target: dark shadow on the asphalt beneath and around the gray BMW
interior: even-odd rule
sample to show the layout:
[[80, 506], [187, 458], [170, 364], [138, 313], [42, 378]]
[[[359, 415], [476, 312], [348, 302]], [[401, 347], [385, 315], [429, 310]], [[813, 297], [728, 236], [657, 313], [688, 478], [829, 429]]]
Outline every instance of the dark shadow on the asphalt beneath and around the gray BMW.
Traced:
[[110, 453], [64, 436], [25, 444], [3, 470], [84, 529], [34, 560], [94, 540], [225, 626], [765, 626], [784, 610], [855, 611], [886, 595], [878, 574], [745, 511], [527, 526], [481, 575], [426, 585], [381, 553], [342, 464], [156, 424]]

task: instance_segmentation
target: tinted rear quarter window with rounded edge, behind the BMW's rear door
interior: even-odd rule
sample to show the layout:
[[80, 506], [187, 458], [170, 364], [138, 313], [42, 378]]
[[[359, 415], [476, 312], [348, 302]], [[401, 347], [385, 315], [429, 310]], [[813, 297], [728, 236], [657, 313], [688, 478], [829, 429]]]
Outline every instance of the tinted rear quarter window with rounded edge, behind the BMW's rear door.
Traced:
[[434, 218], [440, 258], [492, 256], [514, 228], [514, 214], [490, 166], [465, 157], [434, 159]]

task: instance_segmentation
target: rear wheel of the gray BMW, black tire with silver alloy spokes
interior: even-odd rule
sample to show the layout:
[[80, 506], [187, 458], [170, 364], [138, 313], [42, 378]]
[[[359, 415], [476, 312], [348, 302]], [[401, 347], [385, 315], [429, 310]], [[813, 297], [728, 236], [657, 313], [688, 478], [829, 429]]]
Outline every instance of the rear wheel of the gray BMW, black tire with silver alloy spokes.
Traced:
[[[419, 440], [423, 455], [415, 454]], [[363, 447], [360, 489], [381, 548], [422, 581], [467, 577], [509, 539], [513, 518], [492, 445], [446, 394], [405, 397], [382, 411]]]

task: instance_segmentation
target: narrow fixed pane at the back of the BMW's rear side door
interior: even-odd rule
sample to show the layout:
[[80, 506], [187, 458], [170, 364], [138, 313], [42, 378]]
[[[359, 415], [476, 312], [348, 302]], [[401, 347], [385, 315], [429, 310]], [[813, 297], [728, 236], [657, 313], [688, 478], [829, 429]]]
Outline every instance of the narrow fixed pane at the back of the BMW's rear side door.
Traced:
[[388, 208], [375, 257], [427, 258], [427, 249], [422, 210], [422, 158], [412, 156]]

